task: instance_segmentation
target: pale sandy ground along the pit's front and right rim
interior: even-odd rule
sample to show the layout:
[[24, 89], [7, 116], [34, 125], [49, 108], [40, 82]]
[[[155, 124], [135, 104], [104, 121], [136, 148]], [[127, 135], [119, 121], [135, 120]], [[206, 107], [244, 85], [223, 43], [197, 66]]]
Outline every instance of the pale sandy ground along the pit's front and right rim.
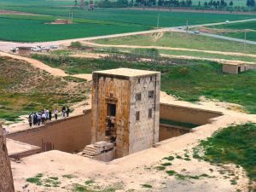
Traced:
[[[232, 123], [256, 122], [256, 115], [231, 112], [224, 108], [230, 103], [202, 101], [191, 104], [176, 101], [175, 97], [161, 93], [161, 102], [183, 106], [219, 109], [223, 116], [212, 120], [212, 124], [201, 125], [191, 133], [173, 137], [159, 143], [155, 148], [131, 154], [124, 158], [103, 163], [77, 154], [49, 151], [12, 162], [15, 188], [26, 186], [30, 191], [73, 191], [76, 187], [86, 189], [116, 189], [116, 191], [247, 191], [248, 179], [241, 167], [216, 166], [193, 158], [193, 148], [201, 139], [210, 137], [214, 131]], [[202, 98], [203, 100], [203, 98]], [[174, 160], [163, 160], [172, 155]], [[189, 157], [189, 160], [185, 158]], [[159, 167], [164, 163], [171, 163]], [[27, 168], [29, 167], [29, 168]], [[176, 172], [168, 175], [166, 171]], [[26, 179], [42, 173], [42, 185], [27, 183]], [[65, 176], [70, 176], [69, 178]], [[45, 187], [49, 177], [57, 177], [58, 187]], [[232, 184], [236, 180], [236, 184]], [[28, 184], [28, 185], [26, 185]], [[75, 190], [74, 190], [75, 191]], [[83, 190], [82, 190], [83, 191]]]

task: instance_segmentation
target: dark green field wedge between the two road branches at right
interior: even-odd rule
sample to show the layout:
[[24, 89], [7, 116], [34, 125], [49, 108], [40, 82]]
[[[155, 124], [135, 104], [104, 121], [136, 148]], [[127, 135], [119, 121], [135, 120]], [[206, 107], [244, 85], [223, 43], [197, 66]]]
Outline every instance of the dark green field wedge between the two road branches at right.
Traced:
[[[256, 41], [256, 21], [249, 21], [243, 23], [230, 23], [228, 25], [212, 26], [215, 29], [226, 29], [227, 32], [218, 33], [230, 38], [246, 38], [250, 41]], [[235, 30], [235, 32], [230, 32]], [[245, 34], [246, 31], [246, 34]]]

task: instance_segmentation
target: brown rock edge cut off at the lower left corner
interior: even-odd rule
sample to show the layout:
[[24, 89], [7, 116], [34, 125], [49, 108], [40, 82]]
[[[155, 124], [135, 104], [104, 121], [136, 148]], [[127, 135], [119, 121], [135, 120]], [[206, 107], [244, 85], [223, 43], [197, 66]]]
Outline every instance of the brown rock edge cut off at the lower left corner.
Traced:
[[6, 148], [3, 129], [0, 125], [0, 192], [14, 192], [14, 180]]

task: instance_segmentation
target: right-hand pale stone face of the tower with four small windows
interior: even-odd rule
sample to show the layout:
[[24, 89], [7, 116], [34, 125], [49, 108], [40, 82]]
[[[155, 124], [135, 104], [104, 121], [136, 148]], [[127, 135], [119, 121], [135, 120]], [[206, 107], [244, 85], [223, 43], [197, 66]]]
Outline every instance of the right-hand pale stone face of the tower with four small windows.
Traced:
[[[152, 77], [152, 78], [150, 78]], [[138, 83], [138, 79], [139, 83]], [[148, 91], [154, 91], [154, 97], [148, 98]], [[136, 101], [136, 94], [141, 93], [141, 101]], [[152, 118], [148, 118], [148, 109], [152, 109]], [[140, 120], [136, 120], [136, 112]], [[160, 117], [160, 73], [131, 79], [130, 111], [130, 148], [129, 154], [151, 148], [159, 141]]]

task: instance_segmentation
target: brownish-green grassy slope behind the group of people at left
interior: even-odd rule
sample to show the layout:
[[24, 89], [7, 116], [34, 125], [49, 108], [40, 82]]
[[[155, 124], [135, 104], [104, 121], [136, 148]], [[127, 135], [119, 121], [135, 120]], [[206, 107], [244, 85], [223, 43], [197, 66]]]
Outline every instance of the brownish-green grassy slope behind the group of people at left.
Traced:
[[21, 114], [80, 102], [85, 90], [84, 82], [55, 78], [26, 62], [0, 57], [0, 120], [16, 121]]

